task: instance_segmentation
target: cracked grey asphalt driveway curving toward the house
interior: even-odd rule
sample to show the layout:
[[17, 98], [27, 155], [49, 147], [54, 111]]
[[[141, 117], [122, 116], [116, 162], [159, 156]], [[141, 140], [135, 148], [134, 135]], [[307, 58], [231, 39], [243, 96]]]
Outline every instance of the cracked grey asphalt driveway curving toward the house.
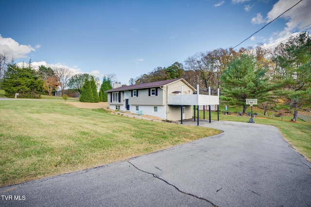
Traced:
[[224, 132], [109, 165], [0, 188], [0, 206], [311, 206], [311, 163], [276, 127], [226, 121], [201, 121], [200, 126]]

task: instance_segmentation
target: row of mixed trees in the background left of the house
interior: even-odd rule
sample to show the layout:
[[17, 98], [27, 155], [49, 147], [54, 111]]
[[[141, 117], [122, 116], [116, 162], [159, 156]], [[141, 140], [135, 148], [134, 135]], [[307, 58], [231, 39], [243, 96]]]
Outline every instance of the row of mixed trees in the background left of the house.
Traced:
[[[58, 91], [65, 95], [70, 92], [78, 93], [82, 102], [107, 101], [104, 91], [112, 88], [115, 75], [109, 74], [100, 85], [99, 79], [90, 74], [76, 74], [68, 68], [46, 67], [40, 65], [33, 69], [31, 61], [28, 64], [6, 63], [6, 56], [0, 56], [0, 87], [5, 91], [6, 97], [40, 98], [41, 94], [52, 96]], [[98, 87], [100, 90], [98, 92]], [[67, 90], [69, 89], [69, 90]], [[67, 95], [66, 94], [66, 95]]]

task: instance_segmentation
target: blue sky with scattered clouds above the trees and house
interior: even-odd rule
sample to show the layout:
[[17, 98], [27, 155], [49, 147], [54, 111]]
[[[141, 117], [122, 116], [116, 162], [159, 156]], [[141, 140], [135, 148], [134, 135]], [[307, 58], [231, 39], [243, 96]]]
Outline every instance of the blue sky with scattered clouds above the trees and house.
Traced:
[[[197, 52], [234, 47], [298, 1], [1, 0], [0, 52], [128, 84]], [[302, 0], [237, 49], [311, 24], [310, 11]]]

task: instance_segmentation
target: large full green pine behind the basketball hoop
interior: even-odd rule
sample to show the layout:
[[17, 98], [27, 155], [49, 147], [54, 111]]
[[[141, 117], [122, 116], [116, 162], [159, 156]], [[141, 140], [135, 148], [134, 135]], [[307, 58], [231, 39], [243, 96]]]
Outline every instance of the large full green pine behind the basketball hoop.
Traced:
[[246, 98], [262, 98], [271, 88], [265, 77], [267, 69], [257, 66], [255, 57], [241, 55], [223, 71], [221, 99], [230, 105], [243, 106], [246, 111]]

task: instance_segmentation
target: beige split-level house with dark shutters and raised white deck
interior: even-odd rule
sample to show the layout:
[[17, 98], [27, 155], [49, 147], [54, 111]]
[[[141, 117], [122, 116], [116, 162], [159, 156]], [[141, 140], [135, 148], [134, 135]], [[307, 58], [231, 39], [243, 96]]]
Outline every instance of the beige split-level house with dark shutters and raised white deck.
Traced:
[[[219, 96], [197, 91], [184, 79], [161, 80], [136, 85], [114, 85], [108, 91], [110, 109], [160, 117], [163, 120], [191, 119], [193, 105], [219, 104]], [[210, 103], [212, 99], [213, 103]]]

